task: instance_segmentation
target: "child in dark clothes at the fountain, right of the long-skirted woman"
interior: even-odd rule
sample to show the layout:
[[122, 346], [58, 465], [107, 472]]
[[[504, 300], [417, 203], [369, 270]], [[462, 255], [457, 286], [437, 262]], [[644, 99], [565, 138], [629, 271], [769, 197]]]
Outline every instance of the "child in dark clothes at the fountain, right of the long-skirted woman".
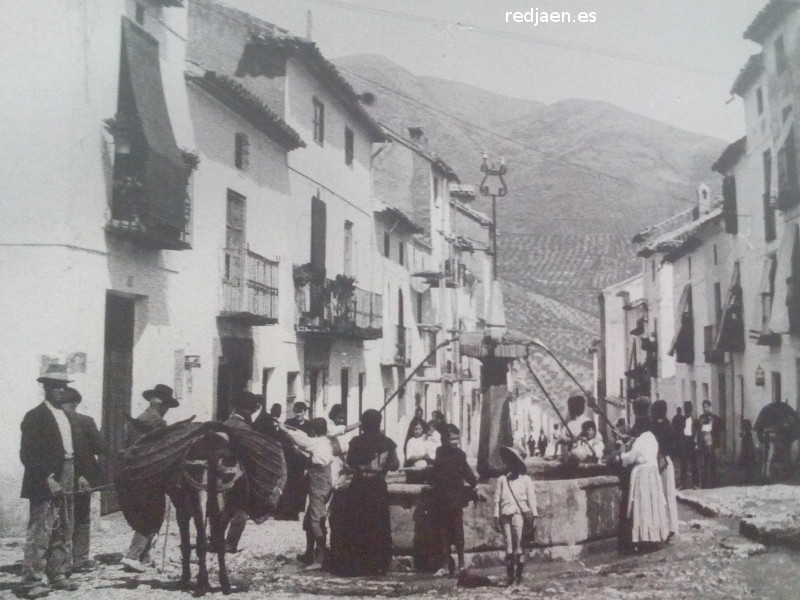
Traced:
[[[442, 427], [442, 445], [436, 449], [431, 468], [433, 510], [441, 536], [441, 568], [434, 574], [453, 574], [450, 570], [450, 549], [456, 547], [458, 570], [464, 569], [464, 507], [474, 494], [478, 480], [467, 464], [467, 455], [459, 448], [461, 432], [455, 425]], [[468, 487], [467, 487], [468, 486]], [[467, 494], [470, 491], [471, 494]]]

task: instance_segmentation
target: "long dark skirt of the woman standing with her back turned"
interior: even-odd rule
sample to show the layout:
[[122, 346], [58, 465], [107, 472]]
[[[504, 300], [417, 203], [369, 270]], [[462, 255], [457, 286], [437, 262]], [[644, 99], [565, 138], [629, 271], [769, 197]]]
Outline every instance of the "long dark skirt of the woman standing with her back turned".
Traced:
[[330, 505], [330, 560], [337, 575], [385, 573], [392, 561], [389, 492], [381, 476], [354, 477]]

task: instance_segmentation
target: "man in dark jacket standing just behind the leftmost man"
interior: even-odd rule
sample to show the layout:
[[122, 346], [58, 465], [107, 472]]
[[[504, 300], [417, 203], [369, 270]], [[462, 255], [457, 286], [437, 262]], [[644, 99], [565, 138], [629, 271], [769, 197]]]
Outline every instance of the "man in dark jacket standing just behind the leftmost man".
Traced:
[[89, 557], [92, 495], [86, 490], [103, 484], [97, 457], [106, 453], [105, 441], [94, 419], [77, 412], [82, 399], [78, 390], [71, 387], [64, 388], [61, 406], [72, 425], [75, 479], [78, 488], [75, 494], [75, 531], [72, 534], [72, 570], [78, 573], [91, 571], [97, 566], [97, 562]]

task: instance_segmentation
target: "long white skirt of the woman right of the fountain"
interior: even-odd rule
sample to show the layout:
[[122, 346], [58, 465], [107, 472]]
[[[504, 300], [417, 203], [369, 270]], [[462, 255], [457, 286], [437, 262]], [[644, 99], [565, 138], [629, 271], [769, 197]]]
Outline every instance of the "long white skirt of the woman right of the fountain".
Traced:
[[663, 542], [669, 537], [667, 500], [658, 465], [636, 465], [631, 472], [628, 492], [628, 517], [631, 519], [631, 541]]

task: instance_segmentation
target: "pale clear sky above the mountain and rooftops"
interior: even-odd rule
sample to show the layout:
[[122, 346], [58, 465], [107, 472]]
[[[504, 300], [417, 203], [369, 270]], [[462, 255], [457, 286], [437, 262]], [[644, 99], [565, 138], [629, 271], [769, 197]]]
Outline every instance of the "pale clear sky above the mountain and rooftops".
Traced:
[[[416, 75], [552, 103], [602, 100], [687, 131], [744, 135], [742, 38], [767, 0], [220, 0], [307, 34], [329, 59], [383, 55]], [[573, 21], [543, 22], [569, 12]], [[515, 22], [521, 12], [533, 22]], [[525, 15], [525, 13], [528, 13]], [[593, 13], [593, 14], [592, 14]], [[507, 22], [508, 21], [508, 22]]]

